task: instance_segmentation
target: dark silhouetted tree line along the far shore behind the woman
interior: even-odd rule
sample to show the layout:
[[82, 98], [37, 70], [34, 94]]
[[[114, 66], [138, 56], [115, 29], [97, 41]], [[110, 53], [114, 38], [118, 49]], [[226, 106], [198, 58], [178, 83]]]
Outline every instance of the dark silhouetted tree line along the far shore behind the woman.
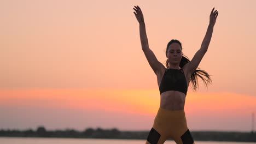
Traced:
[[[146, 140], [149, 131], [119, 131], [116, 128], [87, 128], [84, 131], [74, 129], [48, 131], [43, 126], [32, 129], [20, 130], [0, 130], [0, 136], [14, 137], [69, 137], [69, 138], [90, 138], [90, 139], [142, 139]], [[193, 139], [196, 141], [237, 141], [256, 142], [256, 133], [223, 132], [223, 131], [191, 131]], [[171, 139], [170, 139], [171, 140]]]

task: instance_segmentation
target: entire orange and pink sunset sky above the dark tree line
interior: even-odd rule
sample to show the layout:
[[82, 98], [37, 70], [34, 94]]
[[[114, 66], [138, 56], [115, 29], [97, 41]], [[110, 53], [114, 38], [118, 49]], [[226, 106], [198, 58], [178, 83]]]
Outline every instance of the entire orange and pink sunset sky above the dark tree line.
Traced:
[[0, 0], [0, 129], [150, 130], [160, 93], [141, 49], [134, 5], [142, 9], [149, 47], [162, 64], [171, 39], [181, 41], [191, 60], [212, 8], [219, 11], [199, 65], [212, 85], [206, 88], [199, 79], [198, 91], [188, 89], [188, 127], [251, 131], [253, 0]]

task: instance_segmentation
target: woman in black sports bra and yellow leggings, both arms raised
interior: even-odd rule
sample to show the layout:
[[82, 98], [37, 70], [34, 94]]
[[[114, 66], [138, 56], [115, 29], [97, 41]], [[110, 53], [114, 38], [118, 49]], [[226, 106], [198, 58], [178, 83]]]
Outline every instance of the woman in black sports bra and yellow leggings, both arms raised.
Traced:
[[[183, 55], [182, 45], [178, 40], [171, 40], [166, 47], [166, 67], [156, 59], [152, 50], [149, 49], [146, 26], [141, 8], [135, 6], [133, 12], [139, 22], [139, 35], [141, 38], [142, 50], [148, 60], [150, 67], [158, 79], [160, 91], [160, 107], [150, 130], [147, 143], [160, 144], [171, 138], [176, 143], [193, 144], [194, 140], [187, 127], [184, 105], [185, 97], [190, 81], [194, 90], [197, 88], [197, 76], [203, 82], [211, 83], [210, 76], [206, 71], [197, 69], [202, 57], [205, 55], [211, 41], [213, 27], [216, 22], [218, 11], [211, 11], [210, 23], [201, 48], [195, 53], [191, 61]], [[181, 69], [180, 69], [181, 68]], [[200, 74], [200, 75], [199, 75]], [[205, 76], [207, 79], [203, 78]], [[207, 83], [206, 83], [207, 82]]]

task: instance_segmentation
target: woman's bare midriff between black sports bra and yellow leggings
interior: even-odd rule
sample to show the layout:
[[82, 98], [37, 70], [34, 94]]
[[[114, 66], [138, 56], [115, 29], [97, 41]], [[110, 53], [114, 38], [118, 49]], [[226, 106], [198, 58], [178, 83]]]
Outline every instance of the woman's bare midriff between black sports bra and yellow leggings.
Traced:
[[179, 91], [161, 93], [160, 107], [167, 110], [184, 110], [186, 95]]

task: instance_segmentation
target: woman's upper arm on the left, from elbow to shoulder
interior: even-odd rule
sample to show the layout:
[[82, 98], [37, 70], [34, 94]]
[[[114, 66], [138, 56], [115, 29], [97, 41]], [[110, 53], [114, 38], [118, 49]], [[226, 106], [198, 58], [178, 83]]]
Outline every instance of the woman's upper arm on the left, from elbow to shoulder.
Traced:
[[162, 68], [165, 68], [165, 66], [158, 61], [158, 59], [155, 57], [155, 54], [152, 50], [149, 48], [143, 49], [143, 52], [148, 60], [148, 63], [150, 67], [154, 70], [154, 73], [157, 75], [160, 73]]

